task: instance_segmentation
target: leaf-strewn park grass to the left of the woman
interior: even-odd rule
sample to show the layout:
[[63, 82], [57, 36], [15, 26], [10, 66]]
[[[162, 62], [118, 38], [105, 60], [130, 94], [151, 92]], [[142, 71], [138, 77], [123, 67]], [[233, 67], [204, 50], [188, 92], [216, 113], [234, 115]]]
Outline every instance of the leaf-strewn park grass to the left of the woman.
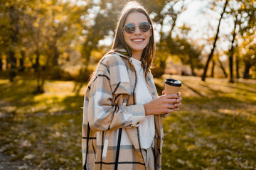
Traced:
[[[46, 81], [35, 94], [36, 81], [0, 78], [0, 150], [36, 169], [80, 169], [83, 91], [73, 81]], [[35, 169], [35, 168], [31, 168]]]

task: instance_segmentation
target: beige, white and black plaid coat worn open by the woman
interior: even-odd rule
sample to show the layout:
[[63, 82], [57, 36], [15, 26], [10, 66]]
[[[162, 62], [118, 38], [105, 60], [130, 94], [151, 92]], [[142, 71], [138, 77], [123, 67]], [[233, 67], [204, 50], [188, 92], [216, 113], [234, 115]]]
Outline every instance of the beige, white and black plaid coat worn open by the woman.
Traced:
[[[157, 98], [151, 73], [146, 77], [151, 96]], [[139, 124], [144, 106], [136, 104], [137, 74], [129, 57], [114, 52], [106, 55], [85, 91], [82, 122], [83, 169], [146, 169], [140, 145]], [[162, 118], [154, 116], [155, 169], [161, 169], [164, 132]], [[126, 131], [132, 145], [120, 143]]]

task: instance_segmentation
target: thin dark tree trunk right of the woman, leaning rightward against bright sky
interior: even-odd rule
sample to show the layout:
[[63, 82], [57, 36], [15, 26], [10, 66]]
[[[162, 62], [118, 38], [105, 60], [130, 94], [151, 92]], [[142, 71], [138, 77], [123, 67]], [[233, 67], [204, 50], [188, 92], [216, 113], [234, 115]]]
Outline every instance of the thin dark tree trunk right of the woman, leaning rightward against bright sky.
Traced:
[[206, 67], [205, 67], [205, 69], [204, 69], [204, 71], [203, 71], [202, 81], [205, 81], [205, 80], [206, 80], [206, 73], [207, 73], [208, 65], [209, 65], [210, 60], [211, 60], [212, 57], [213, 57], [213, 52], [214, 52], [214, 50], [215, 50], [216, 42], [217, 42], [217, 40], [218, 40], [218, 33], [219, 33], [219, 31], [220, 31], [220, 21], [221, 21], [221, 19], [223, 18], [223, 14], [225, 13], [225, 8], [227, 7], [227, 5], [228, 5], [228, 0], [225, 1], [225, 5], [224, 5], [224, 7], [223, 7], [223, 12], [222, 12], [221, 15], [220, 15], [220, 19], [219, 19], [219, 23], [218, 23], [218, 28], [217, 28], [217, 33], [216, 33], [216, 35], [215, 35], [215, 40], [214, 40], [214, 42], [213, 42], [213, 48], [212, 48], [212, 50], [211, 50], [211, 52], [210, 52], [210, 55], [208, 56], [208, 60], [207, 60], [207, 62], [206, 62]]

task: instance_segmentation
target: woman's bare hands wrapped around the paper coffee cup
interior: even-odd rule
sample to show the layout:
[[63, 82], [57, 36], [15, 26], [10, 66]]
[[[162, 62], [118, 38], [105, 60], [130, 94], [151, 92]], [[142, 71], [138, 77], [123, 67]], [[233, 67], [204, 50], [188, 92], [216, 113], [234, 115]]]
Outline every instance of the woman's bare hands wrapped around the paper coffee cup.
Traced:
[[154, 99], [153, 101], [144, 104], [146, 115], [161, 115], [164, 113], [172, 113], [179, 110], [181, 106], [181, 93], [177, 94], [164, 94]]

